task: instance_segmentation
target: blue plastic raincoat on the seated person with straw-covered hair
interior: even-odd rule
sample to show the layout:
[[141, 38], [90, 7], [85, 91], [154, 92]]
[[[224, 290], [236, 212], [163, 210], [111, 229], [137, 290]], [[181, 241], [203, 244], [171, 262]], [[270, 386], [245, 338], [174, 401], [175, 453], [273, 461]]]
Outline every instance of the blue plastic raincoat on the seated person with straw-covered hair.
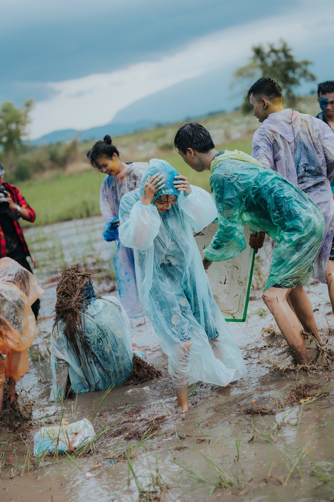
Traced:
[[74, 392], [102, 390], [121, 385], [133, 367], [131, 327], [119, 301], [106, 296], [95, 298], [81, 313], [85, 342], [78, 340], [81, 362], [64, 335], [62, 320], [51, 335], [51, 401], [65, 397], [67, 378]]

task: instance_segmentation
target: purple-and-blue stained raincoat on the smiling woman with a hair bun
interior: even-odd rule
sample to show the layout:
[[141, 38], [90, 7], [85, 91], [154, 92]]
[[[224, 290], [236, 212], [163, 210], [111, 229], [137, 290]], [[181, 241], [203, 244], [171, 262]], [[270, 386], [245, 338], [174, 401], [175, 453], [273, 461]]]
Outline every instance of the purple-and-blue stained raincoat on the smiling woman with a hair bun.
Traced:
[[[121, 197], [139, 188], [147, 167], [147, 162], [133, 162], [118, 176], [107, 175], [104, 178], [100, 192], [100, 209], [106, 224], [118, 218]], [[114, 255], [114, 267], [120, 301], [130, 318], [141, 317], [144, 313], [138, 301], [133, 250], [124, 247], [118, 238], [115, 240], [115, 245], [117, 249]]]

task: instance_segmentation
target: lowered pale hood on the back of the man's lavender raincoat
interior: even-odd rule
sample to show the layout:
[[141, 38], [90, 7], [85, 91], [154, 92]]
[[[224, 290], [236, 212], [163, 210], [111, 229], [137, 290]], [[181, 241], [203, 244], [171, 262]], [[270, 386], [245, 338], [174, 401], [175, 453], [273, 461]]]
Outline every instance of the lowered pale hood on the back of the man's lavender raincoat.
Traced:
[[262, 122], [260, 128], [269, 129], [280, 134], [288, 143], [292, 143], [301, 127], [301, 115], [295, 110], [286, 108], [280, 112], [271, 113]]

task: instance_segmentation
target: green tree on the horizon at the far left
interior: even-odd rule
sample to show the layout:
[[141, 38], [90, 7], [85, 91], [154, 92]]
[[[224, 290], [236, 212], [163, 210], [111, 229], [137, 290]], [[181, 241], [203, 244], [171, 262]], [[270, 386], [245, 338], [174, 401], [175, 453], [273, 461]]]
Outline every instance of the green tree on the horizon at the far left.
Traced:
[[27, 99], [21, 108], [11, 101], [4, 101], [0, 109], [0, 146], [5, 157], [18, 153], [29, 124], [33, 99]]

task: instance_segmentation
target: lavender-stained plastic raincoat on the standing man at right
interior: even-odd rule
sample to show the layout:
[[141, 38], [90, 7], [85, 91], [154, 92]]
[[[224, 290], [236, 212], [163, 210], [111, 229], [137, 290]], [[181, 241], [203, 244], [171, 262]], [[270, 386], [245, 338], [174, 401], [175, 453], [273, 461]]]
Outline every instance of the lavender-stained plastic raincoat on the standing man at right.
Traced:
[[286, 109], [272, 113], [253, 137], [253, 156], [305, 192], [321, 209], [326, 228], [314, 262], [313, 276], [326, 282], [334, 232], [334, 201], [329, 177], [334, 175], [334, 134], [311, 115]]

